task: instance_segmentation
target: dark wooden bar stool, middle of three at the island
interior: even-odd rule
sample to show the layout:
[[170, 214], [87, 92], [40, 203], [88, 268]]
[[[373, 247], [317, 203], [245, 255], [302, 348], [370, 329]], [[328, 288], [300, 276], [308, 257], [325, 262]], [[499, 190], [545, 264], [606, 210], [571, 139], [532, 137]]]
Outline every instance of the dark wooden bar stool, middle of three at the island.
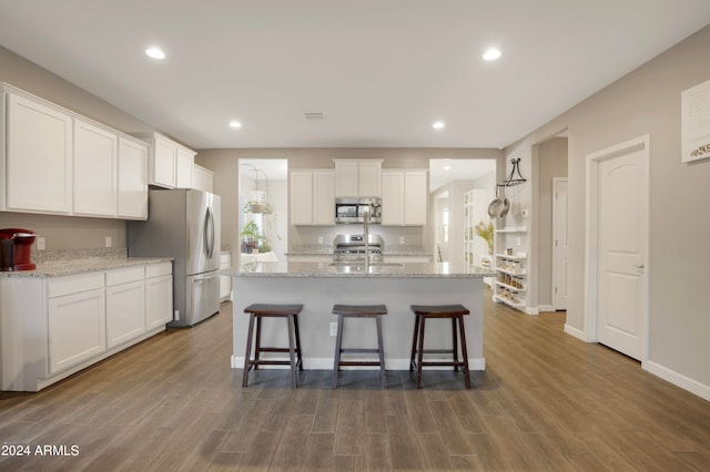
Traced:
[[[333, 361], [333, 388], [337, 387], [337, 372], [341, 366], [379, 366], [382, 388], [387, 388], [387, 373], [385, 371], [385, 349], [382, 341], [381, 316], [387, 315], [384, 305], [334, 305], [333, 315], [337, 315], [337, 337], [335, 338], [335, 360]], [[343, 348], [343, 321], [344, 318], [375, 318], [377, 326], [377, 349]], [[378, 353], [379, 361], [342, 360], [341, 353]]]

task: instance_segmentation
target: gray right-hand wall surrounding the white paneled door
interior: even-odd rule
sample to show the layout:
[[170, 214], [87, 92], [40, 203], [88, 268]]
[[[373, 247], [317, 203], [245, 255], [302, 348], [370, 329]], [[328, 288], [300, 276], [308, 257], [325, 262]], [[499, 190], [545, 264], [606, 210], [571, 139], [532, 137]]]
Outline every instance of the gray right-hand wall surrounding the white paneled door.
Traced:
[[506, 150], [568, 130], [570, 278], [567, 325], [585, 330], [585, 158], [650, 135], [650, 335], [646, 368], [710, 391], [710, 160], [680, 162], [680, 93], [710, 79], [710, 25]]

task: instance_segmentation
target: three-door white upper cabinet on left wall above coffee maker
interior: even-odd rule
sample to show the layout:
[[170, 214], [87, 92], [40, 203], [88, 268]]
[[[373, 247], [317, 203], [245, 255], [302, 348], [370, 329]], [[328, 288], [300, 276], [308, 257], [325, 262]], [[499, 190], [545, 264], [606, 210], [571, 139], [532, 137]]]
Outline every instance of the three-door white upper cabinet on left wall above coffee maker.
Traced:
[[2, 84], [0, 209], [145, 219], [148, 144]]

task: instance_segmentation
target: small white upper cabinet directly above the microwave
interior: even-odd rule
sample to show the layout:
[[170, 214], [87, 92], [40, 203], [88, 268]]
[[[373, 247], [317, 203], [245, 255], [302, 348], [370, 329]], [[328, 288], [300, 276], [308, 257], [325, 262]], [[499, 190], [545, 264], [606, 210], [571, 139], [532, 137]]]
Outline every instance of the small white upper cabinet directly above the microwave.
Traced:
[[381, 197], [382, 160], [334, 160], [336, 197]]

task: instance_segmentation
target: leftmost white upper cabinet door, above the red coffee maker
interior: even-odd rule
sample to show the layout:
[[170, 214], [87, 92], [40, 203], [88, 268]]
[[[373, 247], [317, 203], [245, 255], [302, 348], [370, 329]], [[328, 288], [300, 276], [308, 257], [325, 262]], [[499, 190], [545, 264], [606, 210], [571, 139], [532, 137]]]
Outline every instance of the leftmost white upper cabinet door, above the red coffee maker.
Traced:
[[71, 116], [24, 96], [7, 96], [7, 209], [71, 213]]

